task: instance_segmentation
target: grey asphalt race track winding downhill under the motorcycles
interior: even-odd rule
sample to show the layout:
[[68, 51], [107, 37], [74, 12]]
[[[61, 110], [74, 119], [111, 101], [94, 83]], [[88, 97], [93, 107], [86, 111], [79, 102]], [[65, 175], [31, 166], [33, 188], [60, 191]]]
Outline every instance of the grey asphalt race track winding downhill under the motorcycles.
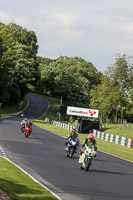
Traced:
[[[24, 112], [30, 119], [39, 118], [48, 102], [29, 95]], [[78, 164], [78, 152], [66, 157], [65, 138], [33, 124], [25, 138], [20, 131], [20, 115], [0, 120], [0, 147], [12, 162], [49, 188], [62, 200], [130, 200], [133, 199], [133, 163], [102, 152], [93, 160], [88, 172]]]

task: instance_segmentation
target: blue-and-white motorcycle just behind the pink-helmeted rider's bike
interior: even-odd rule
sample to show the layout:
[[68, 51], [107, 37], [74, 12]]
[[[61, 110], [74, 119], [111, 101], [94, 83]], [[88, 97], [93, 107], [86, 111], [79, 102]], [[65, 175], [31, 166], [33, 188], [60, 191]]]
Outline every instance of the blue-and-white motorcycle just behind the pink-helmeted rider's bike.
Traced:
[[76, 153], [76, 149], [79, 145], [79, 140], [77, 138], [75, 139], [71, 139], [66, 147], [66, 152], [67, 152], [67, 156], [69, 156], [70, 158], [73, 157], [74, 153]]

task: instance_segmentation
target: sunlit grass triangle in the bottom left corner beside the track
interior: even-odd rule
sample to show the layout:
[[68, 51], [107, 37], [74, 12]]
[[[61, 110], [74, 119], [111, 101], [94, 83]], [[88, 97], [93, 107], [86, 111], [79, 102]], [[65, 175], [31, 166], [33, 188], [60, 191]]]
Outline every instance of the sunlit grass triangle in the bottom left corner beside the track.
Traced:
[[48, 190], [0, 157], [0, 188], [13, 200], [56, 200]]

